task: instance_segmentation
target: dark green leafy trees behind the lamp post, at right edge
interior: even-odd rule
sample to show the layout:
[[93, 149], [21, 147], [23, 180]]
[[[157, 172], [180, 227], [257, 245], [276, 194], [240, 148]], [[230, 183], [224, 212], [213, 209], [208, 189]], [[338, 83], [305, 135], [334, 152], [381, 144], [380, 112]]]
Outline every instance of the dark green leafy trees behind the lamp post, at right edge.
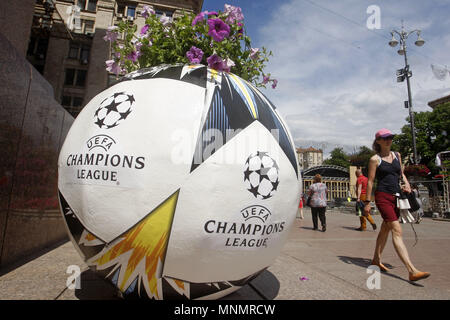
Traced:
[[[394, 138], [392, 148], [398, 150], [405, 160], [412, 162], [412, 134], [409, 117], [402, 133]], [[435, 174], [436, 154], [450, 149], [450, 102], [438, 105], [433, 111], [415, 112], [416, 148], [420, 163], [425, 164]]]

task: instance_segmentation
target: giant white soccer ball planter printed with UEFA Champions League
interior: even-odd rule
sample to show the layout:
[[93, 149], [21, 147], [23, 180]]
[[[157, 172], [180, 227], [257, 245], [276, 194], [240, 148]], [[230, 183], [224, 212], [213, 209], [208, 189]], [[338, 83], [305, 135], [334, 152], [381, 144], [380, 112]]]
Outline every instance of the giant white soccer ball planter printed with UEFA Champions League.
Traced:
[[279, 254], [301, 188], [275, 107], [202, 65], [142, 69], [97, 95], [58, 166], [75, 248], [124, 297], [239, 289]]

